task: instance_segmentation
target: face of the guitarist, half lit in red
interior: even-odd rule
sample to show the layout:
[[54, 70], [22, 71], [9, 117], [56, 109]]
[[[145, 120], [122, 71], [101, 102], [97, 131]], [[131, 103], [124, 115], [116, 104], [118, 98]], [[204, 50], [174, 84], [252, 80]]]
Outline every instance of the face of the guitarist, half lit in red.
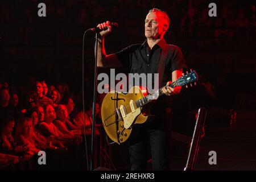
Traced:
[[159, 13], [148, 13], [145, 19], [145, 36], [149, 39], [159, 39], [164, 35], [164, 23]]

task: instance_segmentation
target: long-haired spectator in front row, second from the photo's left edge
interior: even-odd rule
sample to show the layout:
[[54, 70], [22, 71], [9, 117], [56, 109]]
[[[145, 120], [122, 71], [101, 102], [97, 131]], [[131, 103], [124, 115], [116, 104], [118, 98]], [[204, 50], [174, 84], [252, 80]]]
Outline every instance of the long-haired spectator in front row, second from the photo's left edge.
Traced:
[[27, 146], [27, 153], [30, 155], [38, 154], [39, 148], [36, 148], [36, 143], [31, 137], [33, 130], [33, 123], [30, 118], [22, 118], [18, 122], [18, 126], [15, 131], [15, 140], [18, 144]]

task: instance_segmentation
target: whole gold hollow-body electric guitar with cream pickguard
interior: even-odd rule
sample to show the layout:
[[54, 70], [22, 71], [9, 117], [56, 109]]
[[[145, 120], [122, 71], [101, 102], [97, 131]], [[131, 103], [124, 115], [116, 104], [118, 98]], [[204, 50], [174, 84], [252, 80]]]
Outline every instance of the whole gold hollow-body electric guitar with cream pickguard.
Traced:
[[[187, 72], [169, 86], [184, 86], [197, 81], [195, 71]], [[167, 86], [164, 86], [167, 89]], [[116, 143], [125, 142], [133, 129], [133, 125], [147, 121], [148, 115], [144, 114], [143, 108], [149, 102], [162, 96], [163, 88], [155, 92], [143, 95], [138, 86], [133, 86], [127, 94], [112, 91], [106, 94], [101, 106], [101, 119], [108, 137]]]

